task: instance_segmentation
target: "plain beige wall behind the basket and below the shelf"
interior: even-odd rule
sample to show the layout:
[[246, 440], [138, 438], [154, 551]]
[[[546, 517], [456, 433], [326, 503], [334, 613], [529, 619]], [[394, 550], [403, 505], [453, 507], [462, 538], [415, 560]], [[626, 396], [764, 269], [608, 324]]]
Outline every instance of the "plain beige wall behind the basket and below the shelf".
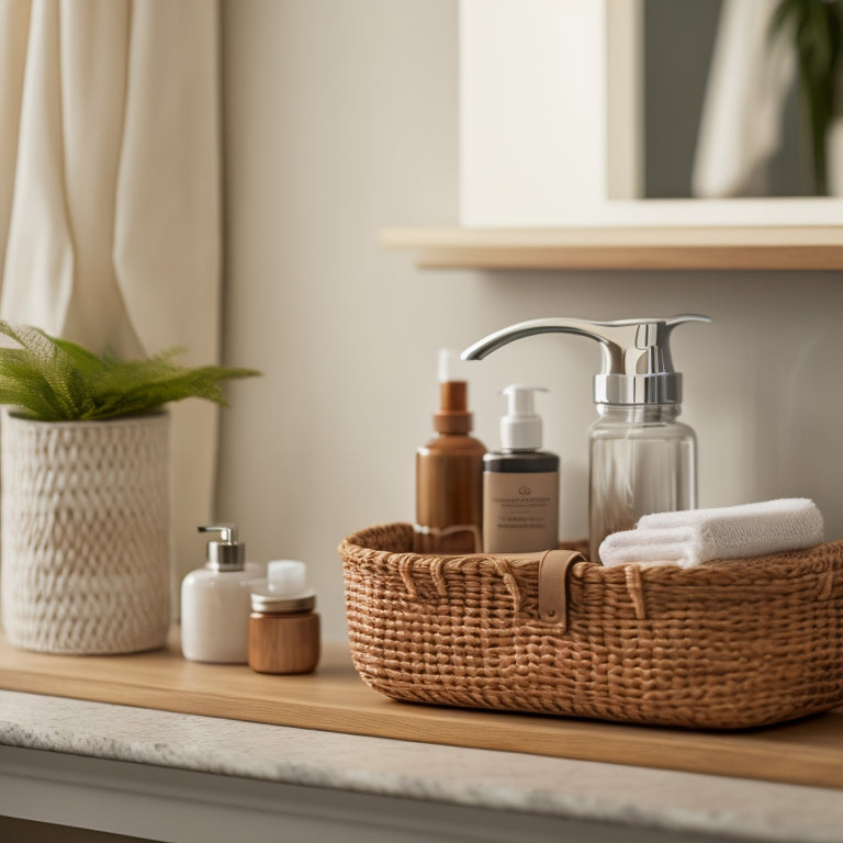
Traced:
[[[250, 558], [311, 563], [328, 638], [345, 633], [341, 538], [413, 518], [437, 349], [519, 319], [710, 315], [673, 340], [700, 504], [806, 495], [843, 536], [838, 273], [416, 270], [375, 237], [456, 222], [457, 3], [229, 0], [224, 55], [225, 353], [265, 376], [234, 384], [223, 414], [217, 515], [240, 525]], [[598, 366], [586, 340], [537, 337], [477, 363], [472, 382], [490, 448], [497, 390], [552, 390], [567, 536], [586, 532]]]

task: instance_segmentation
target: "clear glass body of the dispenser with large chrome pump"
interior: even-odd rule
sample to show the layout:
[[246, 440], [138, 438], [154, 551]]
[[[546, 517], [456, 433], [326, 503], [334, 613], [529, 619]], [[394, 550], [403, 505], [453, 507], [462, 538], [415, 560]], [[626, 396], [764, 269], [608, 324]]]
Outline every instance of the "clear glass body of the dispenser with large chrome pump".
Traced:
[[697, 442], [676, 420], [678, 404], [598, 404], [592, 425], [588, 499], [591, 558], [611, 532], [642, 515], [697, 505]]

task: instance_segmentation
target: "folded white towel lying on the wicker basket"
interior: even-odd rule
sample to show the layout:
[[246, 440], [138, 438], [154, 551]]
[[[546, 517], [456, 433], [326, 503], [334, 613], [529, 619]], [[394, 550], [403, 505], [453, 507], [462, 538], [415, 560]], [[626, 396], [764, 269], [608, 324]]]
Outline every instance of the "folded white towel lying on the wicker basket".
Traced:
[[675, 564], [741, 559], [822, 542], [822, 514], [808, 498], [644, 515], [634, 530], [607, 536], [604, 565]]

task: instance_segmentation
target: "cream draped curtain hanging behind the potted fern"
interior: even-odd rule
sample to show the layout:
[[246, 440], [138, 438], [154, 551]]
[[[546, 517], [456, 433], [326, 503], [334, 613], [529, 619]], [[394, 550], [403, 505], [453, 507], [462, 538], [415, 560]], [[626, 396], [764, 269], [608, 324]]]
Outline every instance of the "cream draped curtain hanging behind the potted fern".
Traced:
[[[216, 0], [0, 0], [0, 315], [124, 357], [218, 357]], [[175, 567], [215, 407], [172, 407]]]

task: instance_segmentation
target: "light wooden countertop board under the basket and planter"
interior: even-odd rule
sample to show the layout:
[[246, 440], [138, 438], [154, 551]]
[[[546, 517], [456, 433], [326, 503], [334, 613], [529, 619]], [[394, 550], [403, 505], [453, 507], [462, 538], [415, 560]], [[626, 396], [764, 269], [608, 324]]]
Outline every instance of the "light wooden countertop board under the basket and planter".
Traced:
[[[843, 709], [776, 727], [700, 732], [394, 702], [367, 687], [346, 647], [314, 674], [211, 665], [169, 647], [124, 656], [46, 655], [0, 638], [0, 688], [234, 720], [843, 788]], [[2, 710], [0, 709], [0, 720]]]

